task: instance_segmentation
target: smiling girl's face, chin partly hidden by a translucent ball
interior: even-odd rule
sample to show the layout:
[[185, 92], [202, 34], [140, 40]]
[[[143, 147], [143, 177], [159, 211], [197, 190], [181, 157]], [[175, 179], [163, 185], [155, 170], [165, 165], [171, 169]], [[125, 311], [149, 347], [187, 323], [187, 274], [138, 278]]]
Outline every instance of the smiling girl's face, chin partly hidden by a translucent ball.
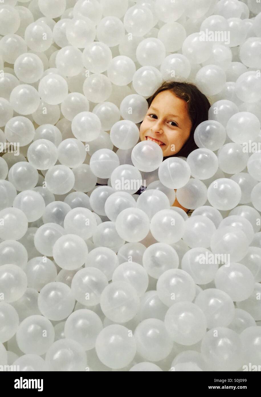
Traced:
[[187, 102], [171, 91], [162, 91], [152, 101], [141, 123], [141, 141], [156, 139], [163, 156], [171, 156], [183, 147], [192, 127]]

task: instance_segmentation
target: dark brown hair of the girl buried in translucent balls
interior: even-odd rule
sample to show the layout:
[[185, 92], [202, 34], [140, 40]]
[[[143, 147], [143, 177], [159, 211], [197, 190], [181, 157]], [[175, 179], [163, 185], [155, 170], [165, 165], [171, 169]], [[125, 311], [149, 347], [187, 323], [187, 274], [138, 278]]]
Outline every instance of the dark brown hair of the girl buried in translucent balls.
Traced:
[[153, 101], [155, 96], [166, 90], [171, 91], [173, 94], [175, 94], [175, 96], [187, 102], [192, 127], [189, 138], [187, 139], [187, 142], [183, 145], [181, 150], [179, 150], [178, 153], [175, 153], [172, 156], [164, 157], [164, 160], [168, 157], [174, 156], [187, 157], [189, 153], [191, 153], [193, 150], [198, 149], [198, 146], [194, 141], [194, 131], [196, 127], [200, 123], [202, 123], [202, 121], [208, 120], [208, 110], [210, 108], [210, 102], [208, 98], [204, 94], [202, 94], [202, 92], [194, 84], [170, 80], [164, 81], [162, 85], [154, 92], [154, 94], [147, 98], [149, 107], [151, 106], [151, 102]]

